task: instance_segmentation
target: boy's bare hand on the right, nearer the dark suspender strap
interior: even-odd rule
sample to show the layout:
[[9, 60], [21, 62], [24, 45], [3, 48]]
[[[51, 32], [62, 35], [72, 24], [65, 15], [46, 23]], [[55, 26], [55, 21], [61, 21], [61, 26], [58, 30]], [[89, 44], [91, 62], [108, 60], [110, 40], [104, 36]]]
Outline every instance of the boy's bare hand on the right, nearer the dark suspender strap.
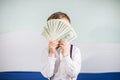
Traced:
[[59, 41], [59, 46], [62, 49], [61, 53], [62, 53], [63, 57], [67, 56], [69, 43], [66, 40], [62, 39]]

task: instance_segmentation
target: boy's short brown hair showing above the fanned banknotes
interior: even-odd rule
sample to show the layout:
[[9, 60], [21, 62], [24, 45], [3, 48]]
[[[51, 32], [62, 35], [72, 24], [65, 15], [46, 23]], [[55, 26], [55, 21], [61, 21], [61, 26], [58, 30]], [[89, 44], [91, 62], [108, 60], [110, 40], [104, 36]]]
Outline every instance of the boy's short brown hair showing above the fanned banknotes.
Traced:
[[61, 18], [66, 18], [71, 23], [71, 20], [68, 17], [68, 15], [66, 13], [63, 13], [63, 12], [55, 12], [55, 13], [53, 13], [52, 15], [50, 15], [48, 17], [47, 21], [51, 20], [51, 19], [61, 19]]

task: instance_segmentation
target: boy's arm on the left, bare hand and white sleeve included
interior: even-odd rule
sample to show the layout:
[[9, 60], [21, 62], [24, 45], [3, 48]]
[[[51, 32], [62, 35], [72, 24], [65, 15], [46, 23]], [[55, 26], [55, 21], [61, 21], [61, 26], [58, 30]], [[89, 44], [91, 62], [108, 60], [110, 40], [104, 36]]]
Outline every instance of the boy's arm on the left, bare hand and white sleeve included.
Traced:
[[54, 73], [54, 67], [55, 67], [55, 61], [56, 61], [55, 52], [56, 52], [57, 46], [58, 46], [58, 43], [56, 41], [49, 42], [49, 55], [46, 55], [47, 62], [41, 71], [42, 74], [47, 78], [50, 78], [51, 76], [53, 76], [53, 73]]

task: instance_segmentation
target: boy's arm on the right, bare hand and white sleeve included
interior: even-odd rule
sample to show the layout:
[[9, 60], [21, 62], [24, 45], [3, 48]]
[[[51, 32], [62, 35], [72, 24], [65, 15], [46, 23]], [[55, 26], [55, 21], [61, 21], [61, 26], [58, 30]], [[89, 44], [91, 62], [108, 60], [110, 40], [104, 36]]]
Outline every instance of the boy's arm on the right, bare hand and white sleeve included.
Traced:
[[60, 47], [62, 49], [61, 53], [63, 55], [63, 64], [65, 65], [65, 70], [66, 73], [70, 76], [70, 77], [76, 77], [78, 75], [78, 73], [80, 72], [80, 68], [81, 68], [81, 54], [78, 48], [73, 47], [73, 57], [72, 59], [70, 58], [70, 56], [68, 55], [68, 47], [69, 43], [65, 40], [61, 40], [60, 41]]

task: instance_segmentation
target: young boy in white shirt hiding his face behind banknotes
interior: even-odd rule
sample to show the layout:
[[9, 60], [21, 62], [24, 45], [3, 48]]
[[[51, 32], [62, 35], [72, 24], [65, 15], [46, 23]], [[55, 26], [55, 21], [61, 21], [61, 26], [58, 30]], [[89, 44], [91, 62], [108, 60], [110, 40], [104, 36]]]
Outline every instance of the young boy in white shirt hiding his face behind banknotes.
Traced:
[[[70, 18], [63, 12], [53, 13], [47, 21], [51, 19], [61, 19], [71, 24]], [[47, 63], [41, 70], [43, 76], [49, 80], [76, 80], [81, 69], [79, 48], [64, 39], [58, 42], [51, 40], [48, 48]]]

